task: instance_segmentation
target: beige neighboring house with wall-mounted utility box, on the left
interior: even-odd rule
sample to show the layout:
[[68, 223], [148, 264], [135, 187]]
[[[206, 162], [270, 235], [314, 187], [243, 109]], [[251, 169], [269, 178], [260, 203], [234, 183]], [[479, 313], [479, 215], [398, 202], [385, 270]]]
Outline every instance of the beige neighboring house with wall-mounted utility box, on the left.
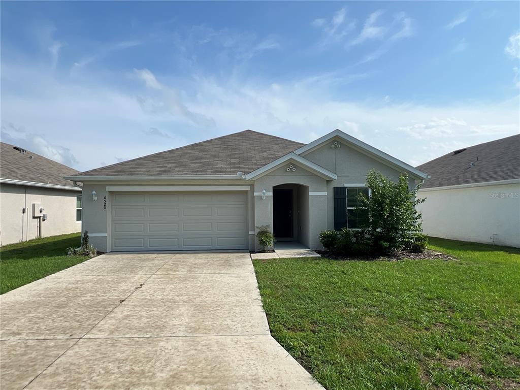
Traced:
[[1, 142], [0, 243], [81, 231], [81, 188], [63, 178], [77, 173]]

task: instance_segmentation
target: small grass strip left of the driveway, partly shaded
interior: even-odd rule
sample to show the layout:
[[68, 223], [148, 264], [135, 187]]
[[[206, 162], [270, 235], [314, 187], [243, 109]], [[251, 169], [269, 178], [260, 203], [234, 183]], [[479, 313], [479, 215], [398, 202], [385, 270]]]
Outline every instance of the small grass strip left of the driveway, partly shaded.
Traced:
[[81, 233], [52, 236], [0, 248], [0, 294], [84, 262], [67, 256], [67, 248], [81, 245]]

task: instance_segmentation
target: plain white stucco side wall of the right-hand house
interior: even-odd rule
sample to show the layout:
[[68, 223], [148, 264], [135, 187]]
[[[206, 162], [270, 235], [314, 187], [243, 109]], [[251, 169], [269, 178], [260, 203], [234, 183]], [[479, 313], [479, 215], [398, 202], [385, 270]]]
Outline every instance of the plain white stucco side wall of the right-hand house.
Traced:
[[520, 248], [520, 184], [420, 190], [423, 231], [433, 237]]

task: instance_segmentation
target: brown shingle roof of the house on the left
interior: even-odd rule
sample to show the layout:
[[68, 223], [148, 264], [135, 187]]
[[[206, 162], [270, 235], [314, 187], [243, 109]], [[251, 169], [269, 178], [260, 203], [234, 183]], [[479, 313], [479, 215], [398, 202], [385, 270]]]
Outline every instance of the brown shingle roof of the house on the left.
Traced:
[[0, 144], [2, 183], [20, 185], [34, 183], [42, 187], [61, 186], [72, 189], [70, 180], [64, 179], [63, 176], [71, 176], [79, 171], [15, 145], [5, 142]]

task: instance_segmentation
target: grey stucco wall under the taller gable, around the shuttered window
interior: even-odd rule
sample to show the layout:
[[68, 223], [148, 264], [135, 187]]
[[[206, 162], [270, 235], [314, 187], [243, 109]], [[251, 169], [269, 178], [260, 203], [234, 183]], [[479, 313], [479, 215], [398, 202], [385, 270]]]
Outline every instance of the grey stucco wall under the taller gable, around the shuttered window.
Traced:
[[[341, 148], [331, 148], [335, 141], [340, 142]], [[303, 157], [337, 175], [337, 180], [327, 181], [327, 229], [334, 229], [334, 187], [343, 187], [345, 184], [364, 185], [371, 169], [381, 172], [393, 181], [397, 181], [401, 175], [393, 167], [347, 146], [339, 138], [330, 140], [323, 146], [304, 154]], [[413, 188], [414, 185], [414, 179], [409, 178], [409, 188]], [[311, 207], [311, 212], [312, 210]]]

